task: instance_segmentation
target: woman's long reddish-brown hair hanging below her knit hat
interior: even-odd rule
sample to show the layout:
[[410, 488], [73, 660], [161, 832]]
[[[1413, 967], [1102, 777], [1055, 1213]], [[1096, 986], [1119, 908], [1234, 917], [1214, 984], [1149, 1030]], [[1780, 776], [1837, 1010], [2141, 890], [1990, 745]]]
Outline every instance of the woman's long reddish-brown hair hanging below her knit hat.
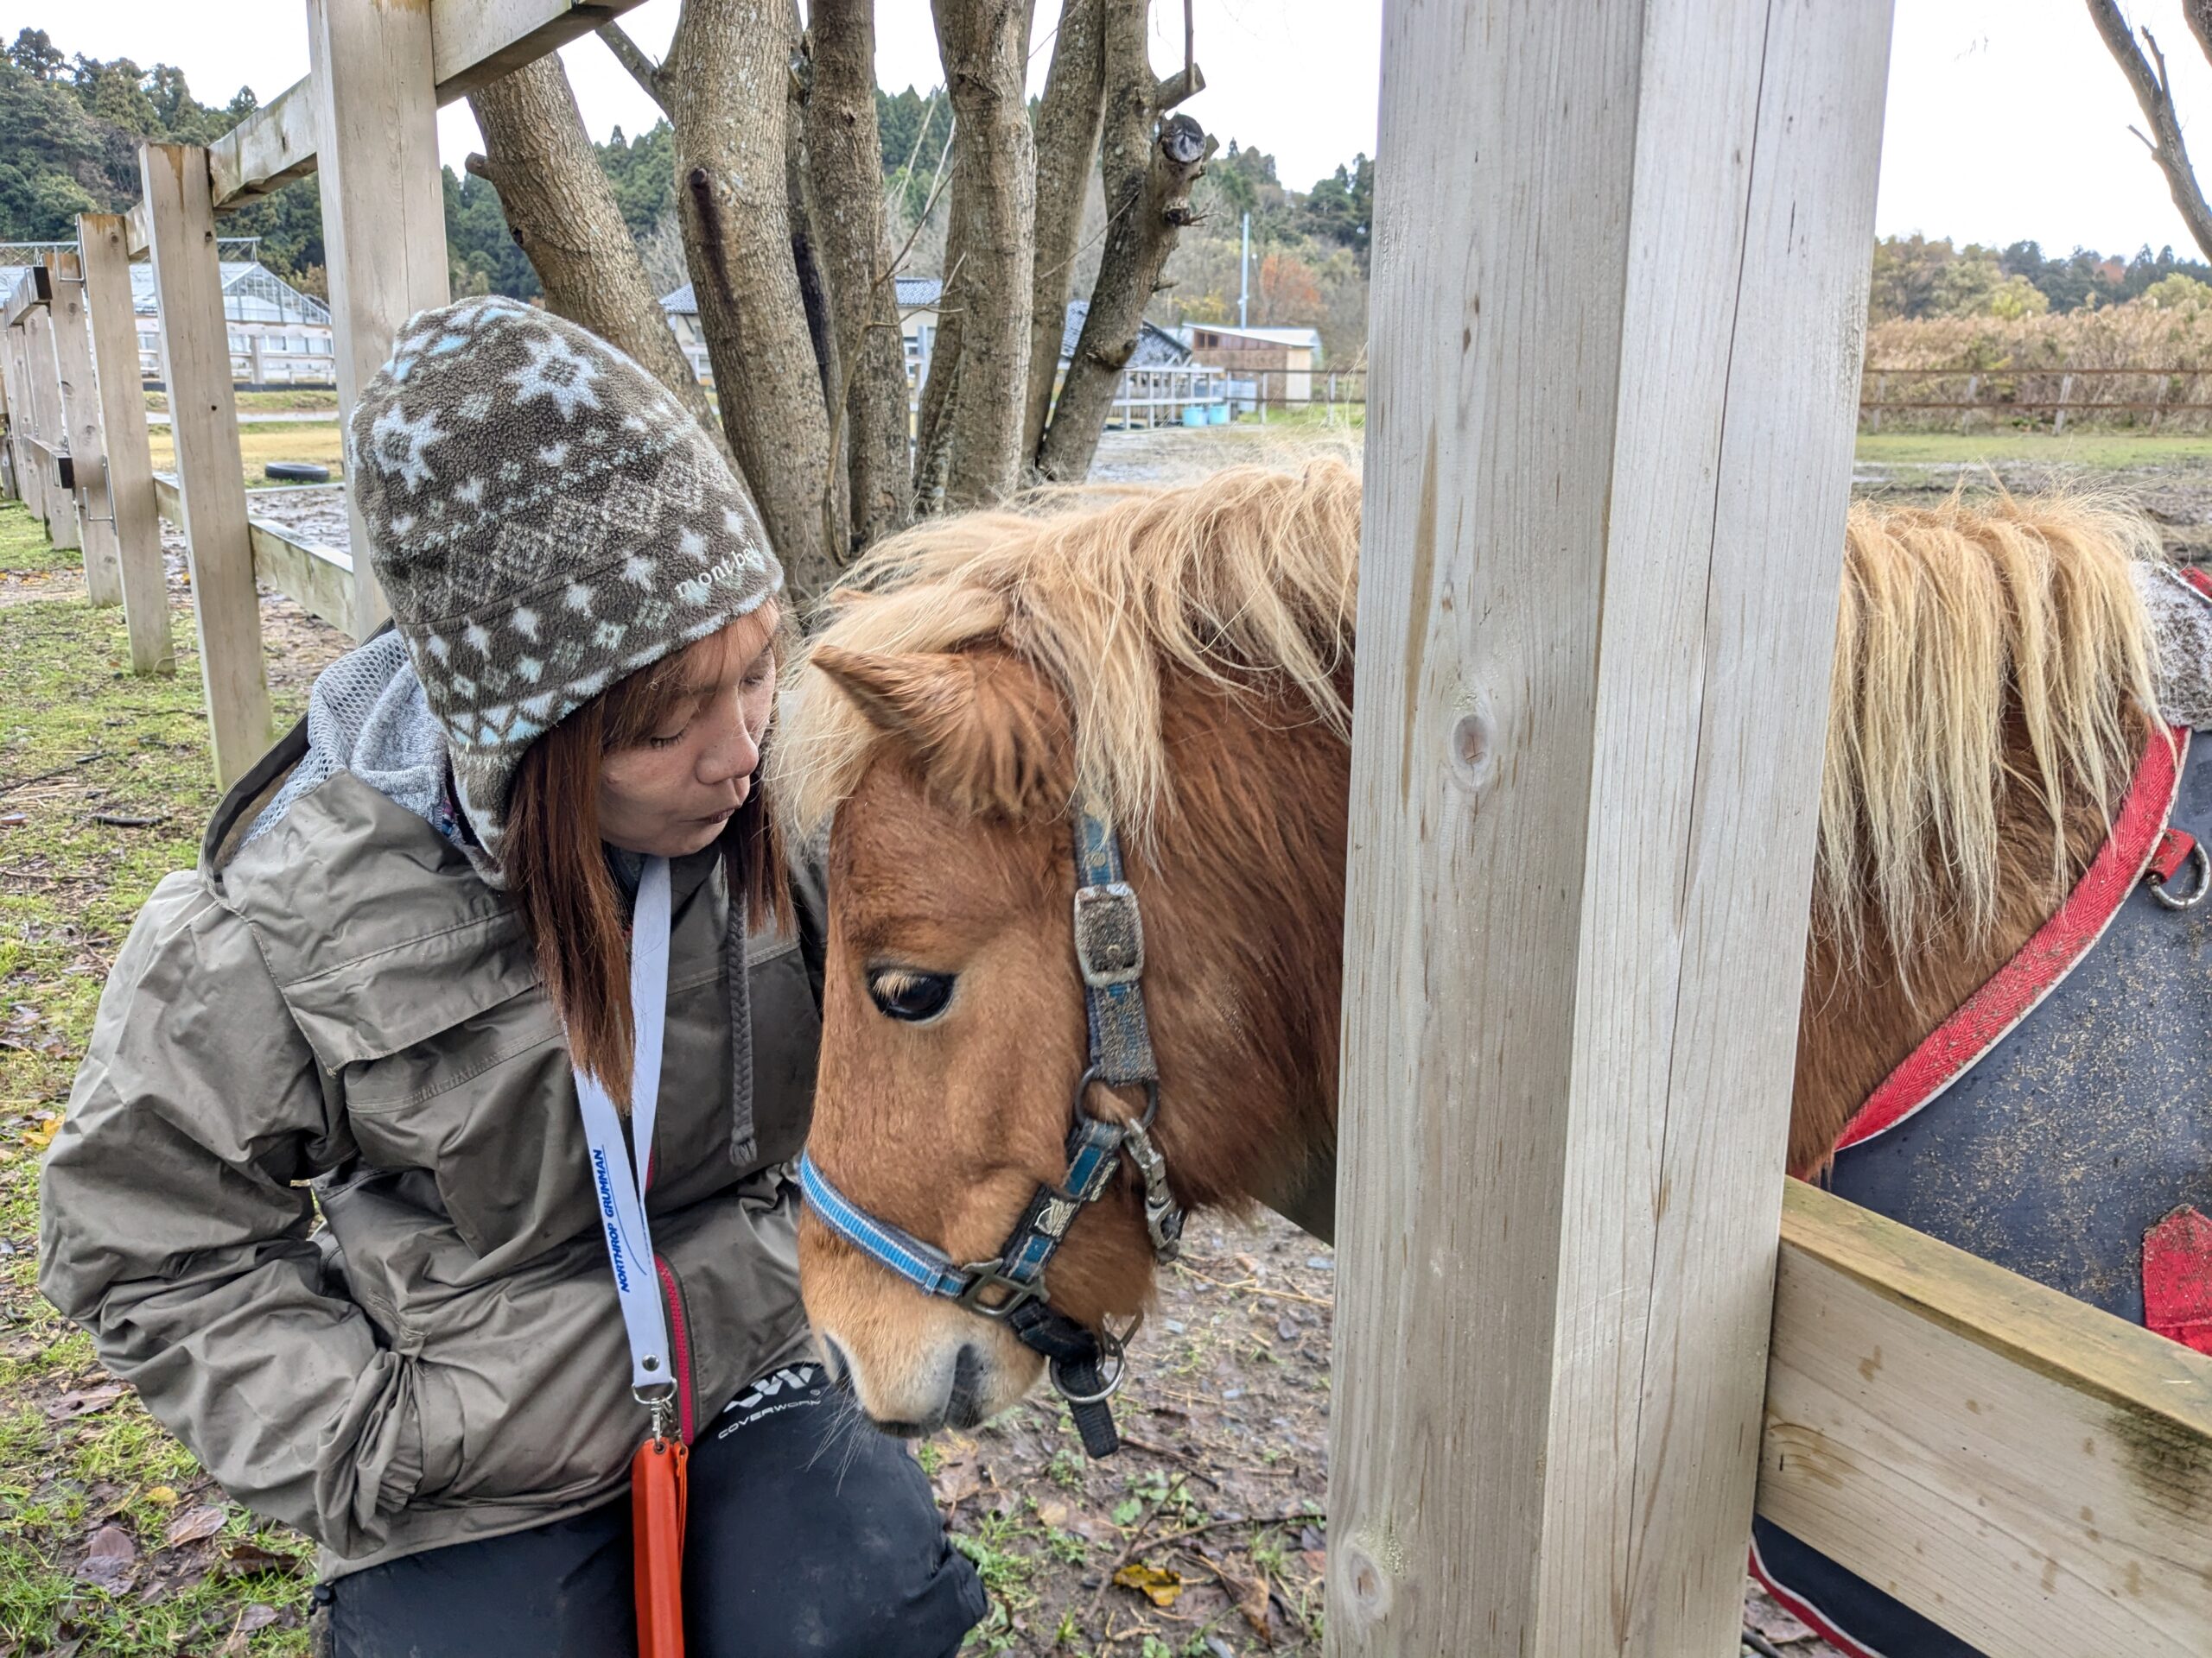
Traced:
[[[785, 628], [776, 630], [781, 661]], [[628, 911], [599, 842], [599, 760], [646, 741], [692, 694], [688, 652], [670, 652], [599, 692], [540, 736], [515, 767], [500, 864], [538, 953], [553, 1010], [568, 1030], [568, 1054], [597, 1077], [615, 1103], [630, 1105]], [[752, 926], [787, 926], [792, 893], [783, 844], [761, 800], [754, 772], [745, 805], [719, 840], [730, 902], [743, 895]], [[732, 962], [741, 973], [743, 962]]]

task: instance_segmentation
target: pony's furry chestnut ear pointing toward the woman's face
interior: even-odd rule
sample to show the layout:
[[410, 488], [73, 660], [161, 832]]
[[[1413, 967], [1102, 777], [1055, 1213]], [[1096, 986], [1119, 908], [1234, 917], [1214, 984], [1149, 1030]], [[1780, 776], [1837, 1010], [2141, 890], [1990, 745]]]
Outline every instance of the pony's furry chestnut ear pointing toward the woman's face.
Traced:
[[993, 652], [865, 652], [816, 646], [810, 661], [920, 760], [969, 816], [1064, 811], [1075, 789], [1068, 716], [1029, 663]]

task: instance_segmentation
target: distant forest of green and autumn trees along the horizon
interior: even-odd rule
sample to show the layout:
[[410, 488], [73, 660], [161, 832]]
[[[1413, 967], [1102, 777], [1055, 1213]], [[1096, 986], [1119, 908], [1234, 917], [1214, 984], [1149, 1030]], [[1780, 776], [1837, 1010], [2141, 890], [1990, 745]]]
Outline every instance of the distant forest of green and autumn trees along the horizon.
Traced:
[[[0, 57], [0, 239], [73, 234], [80, 212], [113, 212], [137, 199], [137, 144], [208, 144], [257, 108], [252, 88], [201, 104], [179, 69], [64, 55], [44, 29], [24, 29]], [[949, 106], [942, 91], [876, 93], [883, 130], [885, 210], [911, 239], [907, 267], [936, 274], [945, 199], [938, 168]], [[595, 146], [622, 217], [661, 290], [684, 283], [675, 230], [675, 157], [666, 122]], [[931, 201], [936, 203], [931, 210]], [[1252, 223], [1248, 321], [1321, 329], [1325, 358], [1356, 367], [1367, 345], [1367, 250], [1374, 161], [1365, 155], [1307, 190], [1276, 177], [1274, 157], [1234, 139], [1199, 181], [1201, 223], [1186, 230], [1152, 305], [1159, 323], [1237, 321], [1245, 283], [1241, 230]], [[931, 221], [916, 230], [916, 219]], [[445, 225], [456, 294], [535, 298], [538, 274], [507, 232], [498, 192], [473, 175], [445, 170]], [[1075, 292], [1088, 292], [1104, 230], [1093, 183], [1091, 223], [1077, 254]], [[223, 217], [223, 232], [259, 237], [261, 263], [310, 294], [325, 294], [323, 219], [314, 177]], [[2172, 274], [2212, 283], [2212, 265], [2172, 248], [2108, 256], [2077, 248], [2044, 254], [2033, 241], [2008, 248], [1889, 237], [1874, 250], [1871, 321], [1993, 316], [2000, 321], [2077, 312], [2137, 298]]]

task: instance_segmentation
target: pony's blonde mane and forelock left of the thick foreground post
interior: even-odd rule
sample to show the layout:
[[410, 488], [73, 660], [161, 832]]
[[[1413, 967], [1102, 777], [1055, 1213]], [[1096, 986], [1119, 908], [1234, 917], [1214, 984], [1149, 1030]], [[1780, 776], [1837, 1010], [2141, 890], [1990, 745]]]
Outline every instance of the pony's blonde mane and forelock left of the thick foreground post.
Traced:
[[[1234, 466], [1181, 489], [1075, 489], [1018, 511], [929, 520], [872, 548], [810, 643], [945, 652], [1000, 641], [1075, 714], [1075, 769], [1144, 840], [1175, 785], [1161, 670], [1223, 690], [1287, 690], [1349, 730], [1360, 480]], [[779, 712], [772, 798], [801, 840], [852, 794], [876, 727], [803, 663]]]

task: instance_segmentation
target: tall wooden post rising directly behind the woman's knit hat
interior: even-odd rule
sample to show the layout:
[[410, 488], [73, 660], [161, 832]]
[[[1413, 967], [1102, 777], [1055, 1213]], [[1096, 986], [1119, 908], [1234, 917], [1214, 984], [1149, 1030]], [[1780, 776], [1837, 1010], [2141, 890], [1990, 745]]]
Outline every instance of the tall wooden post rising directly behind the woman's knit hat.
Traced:
[[[449, 296], [431, 9], [307, 0], [307, 51], [343, 422], [400, 325]], [[389, 606], [376, 586], [352, 473], [345, 504], [354, 535], [354, 626], [374, 630]]]

